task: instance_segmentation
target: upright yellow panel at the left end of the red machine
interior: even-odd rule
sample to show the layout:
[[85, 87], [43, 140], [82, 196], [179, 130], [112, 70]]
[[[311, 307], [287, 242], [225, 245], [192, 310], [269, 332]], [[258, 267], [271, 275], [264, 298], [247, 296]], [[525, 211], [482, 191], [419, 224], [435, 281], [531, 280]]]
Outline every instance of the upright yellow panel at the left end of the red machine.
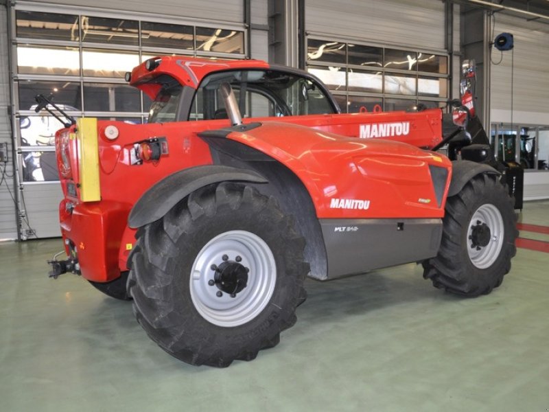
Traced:
[[78, 139], [78, 163], [80, 174], [80, 200], [101, 200], [99, 182], [99, 148], [97, 146], [97, 119], [82, 117], [76, 121]]

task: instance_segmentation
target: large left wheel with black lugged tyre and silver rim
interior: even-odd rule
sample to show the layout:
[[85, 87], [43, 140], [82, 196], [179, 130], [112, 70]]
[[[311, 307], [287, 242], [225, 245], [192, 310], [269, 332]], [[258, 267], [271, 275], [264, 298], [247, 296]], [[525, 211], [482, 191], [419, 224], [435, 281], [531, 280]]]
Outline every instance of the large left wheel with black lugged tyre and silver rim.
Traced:
[[250, 361], [305, 300], [305, 242], [272, 197], [209, 185], [137, 232], [128, 290], [137, 320], [191, 365]]

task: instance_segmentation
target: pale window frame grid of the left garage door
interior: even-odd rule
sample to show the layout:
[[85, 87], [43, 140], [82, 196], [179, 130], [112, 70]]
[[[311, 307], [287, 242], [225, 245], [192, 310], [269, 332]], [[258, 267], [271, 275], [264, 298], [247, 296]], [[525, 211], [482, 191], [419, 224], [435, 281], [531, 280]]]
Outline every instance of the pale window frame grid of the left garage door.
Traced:
[[[78, 24], [76, 30], [78, 33], [73, 36], [73, 39], [69, 39], [67, 34], [67, 27], [65, 27], [65, 32], [63, 38], [52, 39], [52, 38], [40, 38], [38, 34], [36, 37], [32, 36], [17, 36], [17, 32], [21, 33], [21, 29], [18, 28], [18, 12], [25, 12], [23, 14], [19, 13], [19, 16], [23, 20], [28, 20], [32, 22], [32, 13], [45, 13], [43, 16], [38, 16], [39, 19], [34, 21], [48, 22], [52, 24], [55, 23], [55, 16], [58, 15], [67, 15], [71, 16], [71, 19], [75, 17], [75, 23]], [[28, 13], [28, 16], [25, 15]], [[51, 20], [48, 20], [51, 14]], [[97, 19], [115, 19], [119, 21], [137, 21], [137, 44], [128, 45], [124, 42], [110, 42], [102, 43], [96, 41], [87, 41], [82, 39], [82, 19], [83, 17], [93, 17]], [[25, 19], [26, 18], [26, 19]], [[141, 43], [141, 36], [143, 36], [143, 30], [141, 28], [141, 23], [159, 23], [159, 24], [172, 24], [172, 25], [183, 25], [192, 27], [192, 49], [177, 49], [172, 46], [167, 47], [148, 47], [143, 46]], [[32, 23], [31, 23], [32, 24]], [[135, 26], [135, 24], [134, 24]], [[231, 30], [237, 32], [237, 36], [242, 38], [241, 51], [242, 53], [224, 53], [224, 52], [201, 52], [196, 48], [196, 27], [207, 27], [211, 29], [221, 29], [221, 30]], [[135, 27], [134, 27], [135, 30]], [[27, 30], [29, 32], [29, 30]], [[23, 117], [37, 114], [29, 108], [21, 107], [19, 102], [19, 82], [24, 82], [26, 80], [36, 81], [36, 82], [71, 82], [77, 84], [80, 87], [80, 108], [78, 111], [71, 111], [69, 114], [74, 117], [100, 117], [100, 118], [132, 118], [140, 119], [141, 123], [145, 123], [148, 119], [148, 100], [145, 99], [143, 92], [139, 91], [139, 110], [138, 111], [91, 111], [86, 110], [86, 95], [84, 93], [84, 88], [87, 84], [99, 83], [99, 84], [125, 84], [128, 83], [124, 78], [116, 77], [95, 77], [95, 76], [84, 76], [83, 70], [83, 52], [93, 49], [101, 49], [106, 52], [121, 52], [129, 53], [130, 55], [137, 56], [137, 64], [143, 62], [144, 55], [163, 55], [163, 54], [181, 54], [188, 56], [202, 56], [205, 58], [246, 58], [248, 56], [248, 47], [249, 42], [248, 38], [250, 36], [250, 29], [244, 23], [227, 23], [221, 21], [211, 21], [205, 22], [200, 19], [185, 19], [185, 18], [174, 18], [173, 16], [150, 16], [146, 13], [141, 12], [128, 12], [123, 10], [97, 10], [89, 7], [78, 7], [78, 6], [65, 6], [65, 5], [38, 5], [30, 3], [15, 3], [14, 5], [8, 8], [8, 36], [10, 38], [10, 47], [12, 65], [10, 67], [10, 87], [12, 90], [12, 100], [14, 104], [14, 111], [11, 114], [12, 128], [14, 130], [14, 146], [16, 150], [21, 152], [19, 156], [19, 173], [18, 179], [22, 184], [36, 184], [36, 183], [49, 183], [49, 182], [34, 182], [34, 181], [24, 181], [23, 174], [21, 172], [23, 168], [22, 159], [25, 154], [33, 151], [40, 152], [54, 152], [54, 146], [23, 146], [21, 141], [21, 130], [20, 119]], [[135, 42], [134, 42], [135, 43]], [[79, 69], [73, 73], [65, 74], [53, 74], [53, 73], [19, 73], [17, 50], [18, 47], [69, 47], [76, 49], [78, 52], [78, 61]], [[128, 67], [128, 71], [133, 67]], [[77, 73], [78, 72], [78, 73]], [[55, 101], [58, 104], [65, 104], [62, 101]], [[137, 106], [137, 105], [136, 105]], [[181, 113], [179, 113], [180, 115]], [[60, 125], [60, 128], [62, 125]], [[39, 149], [39, 150], [36, 150]]]

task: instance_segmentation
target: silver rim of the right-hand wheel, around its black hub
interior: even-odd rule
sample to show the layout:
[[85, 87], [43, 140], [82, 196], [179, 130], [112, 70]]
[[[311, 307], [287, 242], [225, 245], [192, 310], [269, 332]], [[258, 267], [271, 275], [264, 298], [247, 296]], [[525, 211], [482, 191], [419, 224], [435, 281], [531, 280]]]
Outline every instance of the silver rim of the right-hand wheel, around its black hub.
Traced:
[[[480, 223], [479, 223], [480, 222]], [[475, 225], [485, 224], [490, 229], [490, 240], [486, 246], [476, 246], [471, 244], [471, 236]], [[479, 269], [485, 269], [491, 266], [498, 259], [502, 251], [504, 238], [504, 225], [502, 214], [497, 207], [491, 204], [480, 206], [476, 209], [467, 231], [467, 253], [469, 259]]]

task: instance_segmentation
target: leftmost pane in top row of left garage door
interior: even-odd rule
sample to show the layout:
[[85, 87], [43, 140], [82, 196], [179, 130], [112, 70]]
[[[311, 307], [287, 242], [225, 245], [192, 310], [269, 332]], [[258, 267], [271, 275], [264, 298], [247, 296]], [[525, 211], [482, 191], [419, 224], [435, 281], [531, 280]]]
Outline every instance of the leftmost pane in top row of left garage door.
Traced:
[[78, 41], [80, 38], [78, 16], [72, 14], [17, 10], [15, 19], [17, 37], [62, 41]]

